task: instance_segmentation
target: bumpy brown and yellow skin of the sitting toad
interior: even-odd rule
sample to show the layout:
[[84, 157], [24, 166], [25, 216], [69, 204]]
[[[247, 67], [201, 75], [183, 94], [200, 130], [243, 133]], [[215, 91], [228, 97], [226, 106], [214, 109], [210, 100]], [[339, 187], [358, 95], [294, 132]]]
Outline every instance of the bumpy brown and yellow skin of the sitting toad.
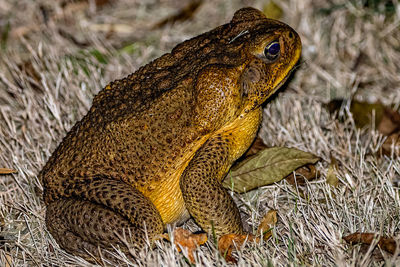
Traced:
[[190, 216], [208, 233], [243, 234], [221, 181], [300, 52], [292, 28], [244, 8], [107, 85], [40, 172], [50, 233], [88, 259], [152, 244]]

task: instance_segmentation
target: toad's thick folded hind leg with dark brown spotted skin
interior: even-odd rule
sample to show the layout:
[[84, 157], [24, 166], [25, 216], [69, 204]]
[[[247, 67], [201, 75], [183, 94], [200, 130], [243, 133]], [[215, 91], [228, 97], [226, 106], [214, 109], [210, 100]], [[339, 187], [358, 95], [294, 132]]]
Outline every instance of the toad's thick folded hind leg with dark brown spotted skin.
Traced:
[[127, 245], [143, 248], [164, 230], [151, 201], [123, 182], [89, 178], [71, 183], [65, 195], [48, 204], [47, 228], [63, 249], [90, 261], [89, 254], [100, 258], [99, 247], [126, 253]]

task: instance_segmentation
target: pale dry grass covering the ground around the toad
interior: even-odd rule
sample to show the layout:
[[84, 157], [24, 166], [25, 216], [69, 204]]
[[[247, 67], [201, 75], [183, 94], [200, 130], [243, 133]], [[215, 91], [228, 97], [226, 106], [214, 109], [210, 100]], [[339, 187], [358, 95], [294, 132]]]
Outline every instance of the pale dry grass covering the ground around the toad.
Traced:
[[[229, 21], [243, 5], [265, 3], [209, 1], [192, 21], [149, 30], [182, 2], [119, 0], [97, 8], [95, 1], [64, 8], [59, 2], [0, 0], [0, 167], [18, 171], [0, 176], [3, 266], [87, 265], [59, 249], [44, 225], [37, 173], [50, 153], [108, 81]], [[376, 155], [383, 141], [377, 131], [356, 129], [351, 117], [338, 122], [323, 108], [334, 97], [353, 96], [399, 108], [400, 5], [382, 10], [360, 2], [279, 2], [282, 20], [301, 35], [303, 64], [266, 106], [260, 136], [268, 145], [321, 156], [322, 177], [303, 188], [281, 182], [236, 196], [250, 227], [270, 208], [279, 215], [273, 238], [238, 253], [239, 266], [400, 264], [399, 251], [381, 256], [342, 240], [355, 231], [400, 232], [399, 159]], [[339, 162], [337, 188], [325, 182], [331, 155]], [[187, 265], [171, 244], [157, 246], [132, 264]], [[197, 256], [198, 265], [226, 264], [211, 242]]]

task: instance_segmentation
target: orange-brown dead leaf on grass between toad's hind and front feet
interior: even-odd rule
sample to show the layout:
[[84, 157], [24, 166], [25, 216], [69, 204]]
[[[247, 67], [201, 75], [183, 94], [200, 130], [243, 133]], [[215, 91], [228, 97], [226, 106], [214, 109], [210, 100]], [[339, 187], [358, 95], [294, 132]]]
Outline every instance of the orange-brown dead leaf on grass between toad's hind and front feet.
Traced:
[[[169, 236], [162, 235], [163, 238], [169, 240]], [[187, 255], [191, 263], [195, 263], [194, 251], [198, 246], [203, 245], [207, 242], [207, 234], [193, 234], [189, 230], [183, 228], [176, 228], [174, 230], [174, 243], [180, 252], [183, 249], [187, 249]]]

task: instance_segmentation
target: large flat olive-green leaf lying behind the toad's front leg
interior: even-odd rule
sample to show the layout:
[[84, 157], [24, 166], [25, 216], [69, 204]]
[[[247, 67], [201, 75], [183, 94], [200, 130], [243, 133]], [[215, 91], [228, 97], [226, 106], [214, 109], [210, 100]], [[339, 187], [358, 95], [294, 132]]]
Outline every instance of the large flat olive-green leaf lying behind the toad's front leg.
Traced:
[[319, 159], [295, 148], [267, 148], [234, 166], [222, 184], [237, 193], [247, 192], [279, 182], [294, 170], [306, 164], [315, 164]]

